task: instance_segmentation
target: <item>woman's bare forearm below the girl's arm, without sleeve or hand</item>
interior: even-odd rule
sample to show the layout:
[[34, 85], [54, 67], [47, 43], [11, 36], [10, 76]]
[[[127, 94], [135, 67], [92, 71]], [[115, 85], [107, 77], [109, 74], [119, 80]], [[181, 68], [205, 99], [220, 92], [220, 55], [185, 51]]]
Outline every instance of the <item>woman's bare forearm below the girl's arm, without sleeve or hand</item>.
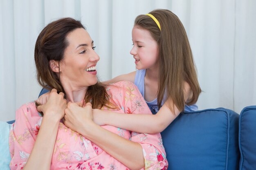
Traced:
[[115, 133], [101, 128], [93, 121], [91, 124], [86, 124], [86, 126], [82, 128], [81, 134], [131, 170], [144, 168], [143, 151], [139, 143], [129, 141]]

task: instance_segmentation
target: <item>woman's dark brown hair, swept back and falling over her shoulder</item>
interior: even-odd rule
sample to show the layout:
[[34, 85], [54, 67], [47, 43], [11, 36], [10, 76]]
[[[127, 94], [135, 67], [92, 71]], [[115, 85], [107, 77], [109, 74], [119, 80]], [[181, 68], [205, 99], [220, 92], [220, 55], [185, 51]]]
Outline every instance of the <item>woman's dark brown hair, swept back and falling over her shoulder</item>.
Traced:
[[[55, 60], [60, 62], [63, 59], [64, 51], [68, 46], [68, 33], [85, 27], [80, 21], [73, 18], [61, 18], [49, 23], [38, 35], [36, 40], [34, 58], [38, 83], [46, 89], [56, 88], [58, 93], [65, 91], [61, 85], [59, 74], [52, 71], [49, 62]], [[86, 30], [86, 29], [85, 29]], [[84, 102], [91, 102], [92, 108], [109, 107], [106, 88], [99, 81], [88, 87]]]

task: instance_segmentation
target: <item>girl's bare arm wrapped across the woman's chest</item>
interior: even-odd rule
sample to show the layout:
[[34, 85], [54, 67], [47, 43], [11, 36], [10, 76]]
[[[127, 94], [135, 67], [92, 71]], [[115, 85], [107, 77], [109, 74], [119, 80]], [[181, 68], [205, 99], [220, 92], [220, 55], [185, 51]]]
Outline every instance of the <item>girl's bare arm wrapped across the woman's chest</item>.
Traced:
[[[191, 90], [188, 83], [185, 82], [184, 99], [191, 98]], [[174, 106], [173, 111], [168, 108], [167, 102], [170, 106]], [[107, 112], [104, 110], [93, 109], [93, 120], [99, 125], [111, 125], [127, 130], [132, 130], [140, 133], [155, 134], [162, 132], [171, 122], [180, 114], [179, 110], [169, 99], [159, 109], [157, 114], [120, 114], [115, 112]]]

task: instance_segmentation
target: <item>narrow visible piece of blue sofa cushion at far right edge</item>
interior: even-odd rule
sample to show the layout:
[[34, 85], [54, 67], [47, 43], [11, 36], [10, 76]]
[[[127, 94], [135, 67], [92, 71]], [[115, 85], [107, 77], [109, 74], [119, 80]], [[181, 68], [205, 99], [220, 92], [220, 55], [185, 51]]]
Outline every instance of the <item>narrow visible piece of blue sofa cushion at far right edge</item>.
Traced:
[[256, 106], [245, 107], [239, 116], [239, 170], [256, 170]]

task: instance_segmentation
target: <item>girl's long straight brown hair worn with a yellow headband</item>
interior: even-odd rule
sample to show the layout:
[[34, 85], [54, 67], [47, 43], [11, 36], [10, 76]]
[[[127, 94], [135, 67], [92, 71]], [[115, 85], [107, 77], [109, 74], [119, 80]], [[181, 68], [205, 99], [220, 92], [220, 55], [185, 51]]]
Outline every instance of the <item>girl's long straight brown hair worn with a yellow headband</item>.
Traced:
[[[180, 19], [169, 10], [155, 9], [150, 14], [158, 20], [161, 30], [148, 15], [137, 16], [134, 26], [148, 30], [159, 46], [158, 108], [163, 99], [171, 99], [179, 110], [184, 110], [184, 105], [195, 104], [201, 93], [186, 31]], [[191, 99], [186, 102], [184, 82], [189, 84], [193, 93]], [[174, 111], [174, 107], [169, 102], [167, 104]]]

